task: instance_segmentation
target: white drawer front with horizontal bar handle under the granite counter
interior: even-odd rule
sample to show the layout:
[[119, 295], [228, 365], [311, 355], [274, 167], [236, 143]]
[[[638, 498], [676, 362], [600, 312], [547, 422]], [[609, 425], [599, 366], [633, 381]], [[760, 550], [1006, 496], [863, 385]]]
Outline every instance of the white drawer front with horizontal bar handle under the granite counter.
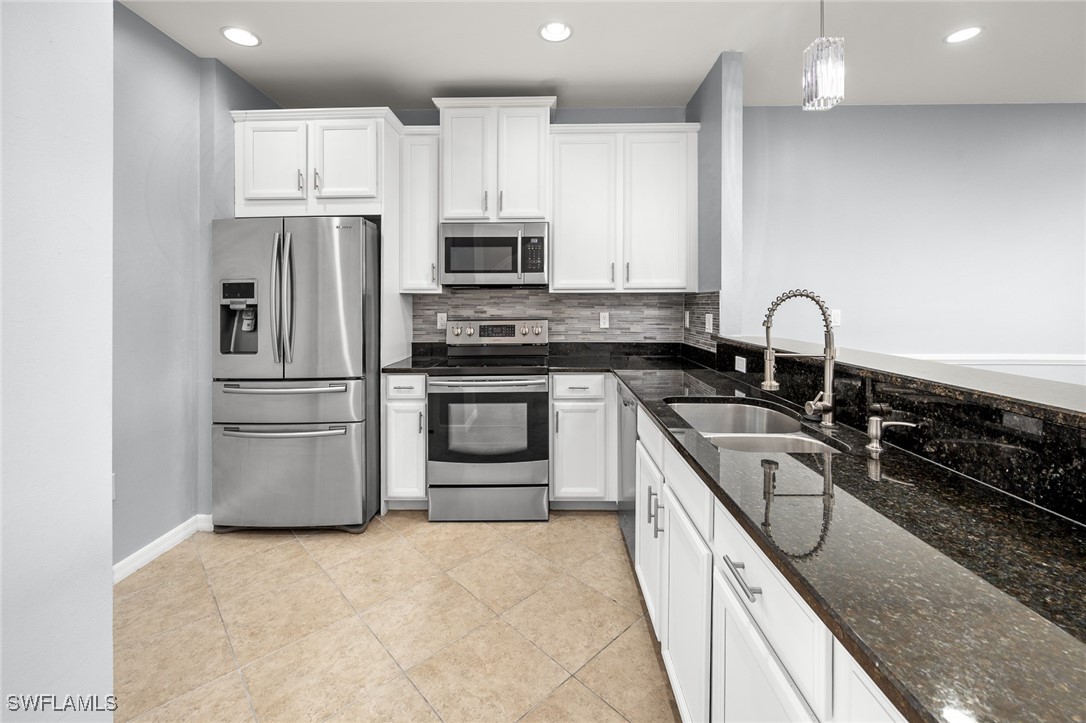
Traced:
[[[819, 720], [826, 720], [833, 650], [830, 630], [719, 502], [714, 505], [714, 528], [715, 565], [743, 601], [815, 714]], [[735, 570], [729, 568], [724, 556]], [[754, 594], [753, 602], [741, 579], [747, 587], [761, 589]]]

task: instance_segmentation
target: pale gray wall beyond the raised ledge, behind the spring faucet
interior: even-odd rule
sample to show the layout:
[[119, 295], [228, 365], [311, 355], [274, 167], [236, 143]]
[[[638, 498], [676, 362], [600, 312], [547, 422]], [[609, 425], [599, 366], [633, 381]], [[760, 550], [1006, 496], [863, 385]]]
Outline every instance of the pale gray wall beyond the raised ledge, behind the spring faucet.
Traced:
[[[748, 107], [744, 161], [744, 333], [798, 287], [842, 309], [841, 346], [1086, 355], [1086, 106]], [[773, 333], [819, 329], [793, 301]]]

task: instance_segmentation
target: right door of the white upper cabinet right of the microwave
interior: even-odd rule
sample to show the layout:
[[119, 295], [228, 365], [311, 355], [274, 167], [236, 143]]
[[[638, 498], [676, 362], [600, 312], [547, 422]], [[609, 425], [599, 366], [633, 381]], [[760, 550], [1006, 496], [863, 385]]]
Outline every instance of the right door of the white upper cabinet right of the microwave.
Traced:
[[623, 288], [686, 288], [685, 134], [629, 134], [623, 144]]

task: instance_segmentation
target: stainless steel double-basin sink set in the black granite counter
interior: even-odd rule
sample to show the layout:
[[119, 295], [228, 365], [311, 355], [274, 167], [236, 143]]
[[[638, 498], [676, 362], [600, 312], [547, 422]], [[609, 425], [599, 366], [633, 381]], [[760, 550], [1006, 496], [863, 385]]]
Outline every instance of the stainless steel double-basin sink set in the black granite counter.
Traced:
[[[672, 401], [673, 399], [673, 401]], [[836, 454], [838, 449], [803, 432], [803, 424], [783, 411], [741, 398], [705, 402], [671, 397], [665, 403], [702, 436], [724, 449]]]

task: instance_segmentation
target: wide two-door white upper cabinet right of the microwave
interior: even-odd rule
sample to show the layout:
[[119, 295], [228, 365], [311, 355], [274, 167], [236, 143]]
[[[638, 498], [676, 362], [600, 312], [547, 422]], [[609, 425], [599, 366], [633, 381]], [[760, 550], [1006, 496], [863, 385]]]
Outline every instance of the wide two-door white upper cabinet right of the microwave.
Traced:
[[552, 290], [693, 290], [697, 129], [552, 127]]

